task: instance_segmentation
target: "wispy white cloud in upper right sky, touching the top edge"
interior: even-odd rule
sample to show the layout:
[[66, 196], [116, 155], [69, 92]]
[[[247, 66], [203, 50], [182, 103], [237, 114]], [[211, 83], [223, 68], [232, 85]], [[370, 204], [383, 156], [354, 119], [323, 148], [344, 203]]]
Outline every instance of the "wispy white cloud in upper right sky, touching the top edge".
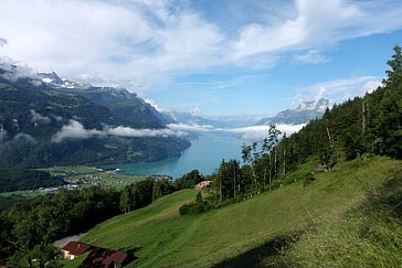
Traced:
[[358, 25], [363, 11], [342, 0], [296, 0], [296, 14], [276, 23], [251, 24], [233, 43], [237, 57], [253, 54], [297, 51], [343, 39]]

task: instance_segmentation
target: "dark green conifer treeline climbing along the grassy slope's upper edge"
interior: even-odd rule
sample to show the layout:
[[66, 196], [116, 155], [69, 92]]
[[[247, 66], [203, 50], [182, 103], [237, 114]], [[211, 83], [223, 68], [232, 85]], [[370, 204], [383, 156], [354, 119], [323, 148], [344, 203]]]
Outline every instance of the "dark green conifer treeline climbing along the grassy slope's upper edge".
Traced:
[[[192, 214], [228, 202], [243, 200], [254, 193], [281, 186], [278, 178], [317, 159], [317, 170], [328, 171], [337, 162], [353, 160], [364, 153], [402, 158], [402, 50], [394, 47], [388, 61], [390, 69], [382, 86], [364, 97], [356, 97], [327, 109], [321, 119], [310, 121], [297, 133], [287, 137], [271, 126], [263, 142], [243, 144], [243, 165], [239, 161], [222, 161], [210, 178], [212, 190], [205, 200], [182, 208]], [[281, 140], [279, 140], [281, 139]], [[314, 174], [299, 179], [308, 185]], [[209, 205], [205, 205], [205, 201]], [[189, 212], [189, 213], [187, 213]]]

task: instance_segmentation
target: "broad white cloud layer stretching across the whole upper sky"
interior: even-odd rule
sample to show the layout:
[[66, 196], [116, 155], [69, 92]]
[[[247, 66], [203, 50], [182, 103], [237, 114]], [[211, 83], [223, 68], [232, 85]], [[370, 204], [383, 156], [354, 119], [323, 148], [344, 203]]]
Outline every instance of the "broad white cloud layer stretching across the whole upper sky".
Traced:
[[0, 33], [8, 44], [0, 55], [67, 78], [146, 90], [136, 86], [233, 64], [266, 67], [288, 52], [310, 51], [302, 61], [321, 62], [315, 50], [402, 28], [396, 0], [295, 0], [275, 19], [266, 10], [232, 29], [182, 1], [2, 0]]

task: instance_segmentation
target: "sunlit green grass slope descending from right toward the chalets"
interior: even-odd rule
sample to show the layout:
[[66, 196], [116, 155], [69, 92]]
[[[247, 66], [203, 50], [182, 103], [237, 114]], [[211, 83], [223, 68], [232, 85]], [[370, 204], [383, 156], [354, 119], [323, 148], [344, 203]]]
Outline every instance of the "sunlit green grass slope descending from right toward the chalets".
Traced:
[[[337, 233], [329, 231], [342, 226], [342, 221], [357, 222], [361, 215], [356, 213], [345, 219], [346, 215], [358, 210], [398, 170], [402, 170], [401, 161], [379, 157], [359, 159], [315, 174], [316, 181], [307, 186], [299, 181], [191, 217], [180, 217], [178, 210], [193, 200], [197, 192], [181, 191], [107, 221], [82, 240], [135, 253], [138, 259], [130, 267], [233, 267], [233, 264], [244, 267], [281, 264], [271, 257], [272, 251], [277, 251], [272, 247], [283, 246], [283, 237], [300, 234], [299, 242], [294, 243], [284, 258], [308, 264], [308, 258], [315, 257], [310, 255], [316, 250], [314, 245], [319, 239], [331, 239], [331, 234]], [[400, 235], [401, 232], [396, 234]], [[311, 240], [314, 236], [319, 237], [317, 242]]]

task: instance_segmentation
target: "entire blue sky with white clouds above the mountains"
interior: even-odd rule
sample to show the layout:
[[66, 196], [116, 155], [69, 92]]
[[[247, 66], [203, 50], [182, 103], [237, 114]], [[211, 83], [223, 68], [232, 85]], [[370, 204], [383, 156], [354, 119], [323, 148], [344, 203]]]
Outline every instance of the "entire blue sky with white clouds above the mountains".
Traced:
[[400, 0], [0, 0], [0, 61], [159, 110], [274, 115], [377, 88]]

